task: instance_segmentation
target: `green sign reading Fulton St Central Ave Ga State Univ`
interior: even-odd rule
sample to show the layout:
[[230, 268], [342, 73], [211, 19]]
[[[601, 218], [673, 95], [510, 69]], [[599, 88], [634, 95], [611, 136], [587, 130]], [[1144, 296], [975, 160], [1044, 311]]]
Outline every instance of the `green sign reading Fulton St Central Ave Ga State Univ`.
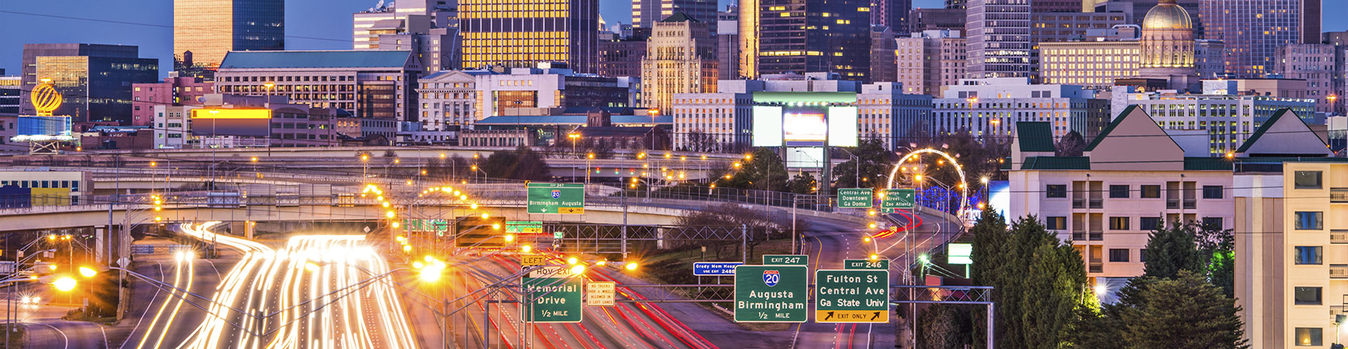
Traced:
[[814, 322], [890, 322], [890, 271], [814, 271]]

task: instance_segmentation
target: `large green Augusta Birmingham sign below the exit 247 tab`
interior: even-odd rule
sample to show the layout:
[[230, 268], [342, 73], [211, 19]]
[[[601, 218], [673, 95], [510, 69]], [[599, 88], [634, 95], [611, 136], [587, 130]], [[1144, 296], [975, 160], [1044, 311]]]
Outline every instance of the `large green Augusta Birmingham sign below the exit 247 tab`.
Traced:
[[735, 322], [806, 322], [805, 265], [735, 267]]

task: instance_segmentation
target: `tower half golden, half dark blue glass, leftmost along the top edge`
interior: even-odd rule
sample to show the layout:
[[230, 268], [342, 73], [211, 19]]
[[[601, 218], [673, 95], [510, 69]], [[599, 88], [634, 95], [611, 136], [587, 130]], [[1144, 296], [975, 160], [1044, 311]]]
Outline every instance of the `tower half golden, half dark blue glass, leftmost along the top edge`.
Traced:
[[229, 51], [286, 50], [284, 0], [175, 0], [173, 53], [217, 67]]

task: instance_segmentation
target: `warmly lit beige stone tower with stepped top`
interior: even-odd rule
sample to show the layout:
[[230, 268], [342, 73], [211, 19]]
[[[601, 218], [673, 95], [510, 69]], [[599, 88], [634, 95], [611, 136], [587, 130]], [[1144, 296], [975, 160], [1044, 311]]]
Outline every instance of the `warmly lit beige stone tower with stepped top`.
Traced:
[[706, 23], [677, 12], [654, 24], [642, 58], [642, 106], [669, 110], [675, 93], [716, 90], [716, 44]]

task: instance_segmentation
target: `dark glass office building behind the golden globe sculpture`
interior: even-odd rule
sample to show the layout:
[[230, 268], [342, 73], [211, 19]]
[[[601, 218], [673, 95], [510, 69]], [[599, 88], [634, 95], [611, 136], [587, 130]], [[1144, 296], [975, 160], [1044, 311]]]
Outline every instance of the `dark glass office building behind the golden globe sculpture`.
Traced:
[[81, 121], [131, 121], [131, 84], [155, 82], [159, 59], [139, 58], [140, 49], [92, 43], [23, 44], [19, 113], [35, 115], [28, 92], [51, 80], [63, 102], [53, 112]]

